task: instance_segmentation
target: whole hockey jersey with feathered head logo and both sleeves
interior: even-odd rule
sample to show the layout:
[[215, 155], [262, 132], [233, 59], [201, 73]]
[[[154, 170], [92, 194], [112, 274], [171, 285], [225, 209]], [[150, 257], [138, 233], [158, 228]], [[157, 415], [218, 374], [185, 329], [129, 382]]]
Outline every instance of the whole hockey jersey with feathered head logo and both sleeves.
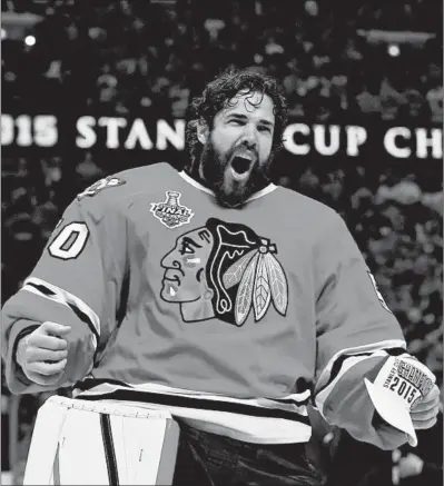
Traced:
[[43, 389], [14, 364], [18, 335], [71, 326], [63, 378], [83, 399], [167, 407], [253, 443], [306, 442], [313, 399], [333, 425], [391, 448], [364, 386], [398, 323], [342, 218], [274, 185], [243, 209], [167, 163], [95, 184], [67, 208], [3, 307], [13, 393]]

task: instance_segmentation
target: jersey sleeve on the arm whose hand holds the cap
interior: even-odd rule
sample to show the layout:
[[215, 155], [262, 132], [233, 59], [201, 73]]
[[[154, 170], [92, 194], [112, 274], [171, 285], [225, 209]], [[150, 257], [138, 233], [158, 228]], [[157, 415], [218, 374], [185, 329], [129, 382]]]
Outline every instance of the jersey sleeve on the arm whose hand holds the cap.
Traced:
[[389, 356], [405, 354], [401, 326], [338, 215], [316, 246], [314, 261], [316, 407], [354, 438], [396, 448], [407, 438], [375, 414], [364, 379], [373, 383]]

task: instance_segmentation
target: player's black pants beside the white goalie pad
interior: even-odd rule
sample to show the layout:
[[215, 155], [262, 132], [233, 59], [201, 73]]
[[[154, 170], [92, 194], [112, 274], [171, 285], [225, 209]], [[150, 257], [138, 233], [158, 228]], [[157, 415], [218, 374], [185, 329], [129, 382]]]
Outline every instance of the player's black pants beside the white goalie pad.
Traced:
[[172, 486], [320, 486], [304, 444], [258, 445], [180, 423]]

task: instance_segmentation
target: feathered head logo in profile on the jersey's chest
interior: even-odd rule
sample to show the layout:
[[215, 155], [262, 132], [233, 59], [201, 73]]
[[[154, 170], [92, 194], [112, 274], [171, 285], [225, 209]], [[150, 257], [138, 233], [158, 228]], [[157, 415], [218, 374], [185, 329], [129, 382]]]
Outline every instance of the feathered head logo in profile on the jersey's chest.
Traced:
[[160, 296], [180, 305], [184, 321], [218, 318], [243, 326], [251, 307], [255, 321], [270, 304], [285, 316], [288, 285], [277, 249], [244, 225], [216, 218], [179, 236], [161, 260]]

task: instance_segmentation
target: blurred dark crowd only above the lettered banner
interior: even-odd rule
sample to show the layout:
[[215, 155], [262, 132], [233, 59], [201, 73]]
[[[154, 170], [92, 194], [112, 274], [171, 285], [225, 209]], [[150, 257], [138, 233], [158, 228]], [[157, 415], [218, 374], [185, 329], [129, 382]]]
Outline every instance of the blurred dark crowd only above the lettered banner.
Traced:
[[[2, 9], [20, 3], [29, 2]], [[180, 118], [190, 97], [234, 65], [279, 78], [304, 119], [442, 121], [435, 0], [339, 0], [334, 9], [325, 0], [42, 3], [36, 43], [2, 41], [6, 111]], [[399, 36], [410, 30], [418, 33]]]

